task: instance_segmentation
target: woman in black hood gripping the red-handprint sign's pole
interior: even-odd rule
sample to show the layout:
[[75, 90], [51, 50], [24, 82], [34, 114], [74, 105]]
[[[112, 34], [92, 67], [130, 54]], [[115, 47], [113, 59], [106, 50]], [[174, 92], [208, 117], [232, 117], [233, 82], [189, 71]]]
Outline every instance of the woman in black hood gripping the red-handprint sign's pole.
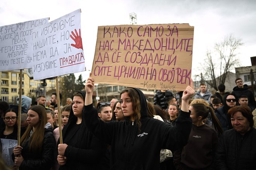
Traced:
[[105, 143], [89, 132], [83, 117], [85, 92], [75, 92], [67, 124], [62, 129], [63, 144], [58, 141], [60, 170], [102, 169]]

